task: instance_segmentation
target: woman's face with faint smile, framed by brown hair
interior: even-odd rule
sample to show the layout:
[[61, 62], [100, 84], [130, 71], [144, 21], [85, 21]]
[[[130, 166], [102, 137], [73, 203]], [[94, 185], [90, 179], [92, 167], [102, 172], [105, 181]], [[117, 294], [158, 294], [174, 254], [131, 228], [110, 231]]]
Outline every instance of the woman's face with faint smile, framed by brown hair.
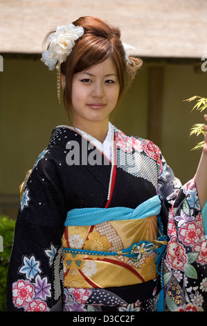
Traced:
[[73, 75], [71, 103], [73, 126], [106, 122], [116, 107], [120, 85], [111, 58]]

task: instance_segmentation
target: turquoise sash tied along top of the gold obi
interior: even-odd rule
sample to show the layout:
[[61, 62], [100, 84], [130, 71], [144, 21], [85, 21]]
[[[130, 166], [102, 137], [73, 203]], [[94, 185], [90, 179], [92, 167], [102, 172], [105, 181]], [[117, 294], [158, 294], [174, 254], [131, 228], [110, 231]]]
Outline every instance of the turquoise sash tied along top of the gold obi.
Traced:
[[158, 215], [161, 212], [161, 200], [156, 195], [135, 209], [128, 207], [111, 208], [77, 208], [67, 213], [65, 226], [96, 225], [106, 221], [123, 221], [129, 219], [146, 218]]

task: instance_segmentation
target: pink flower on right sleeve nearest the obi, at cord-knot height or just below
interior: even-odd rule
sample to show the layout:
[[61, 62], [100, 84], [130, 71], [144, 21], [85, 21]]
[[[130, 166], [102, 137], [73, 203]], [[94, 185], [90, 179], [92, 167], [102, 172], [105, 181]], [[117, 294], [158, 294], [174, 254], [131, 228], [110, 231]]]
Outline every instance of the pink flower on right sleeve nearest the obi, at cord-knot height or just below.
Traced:
[[185, 249], [183, 246], [174, 240], [175, 238], [172, 238], [172, 241], [168, 243], [167, 260], [172, 268], [179, 268], [183, 271], [188, 258], [185, 255]]

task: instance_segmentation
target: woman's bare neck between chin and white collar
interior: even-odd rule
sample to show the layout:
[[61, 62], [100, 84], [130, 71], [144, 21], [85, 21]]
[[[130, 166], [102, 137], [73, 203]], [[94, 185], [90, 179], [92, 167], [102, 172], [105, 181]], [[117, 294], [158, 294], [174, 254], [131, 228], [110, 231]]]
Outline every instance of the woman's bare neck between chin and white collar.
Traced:
[[75, 121], [73, 121], [73, 127], [78, 128], [84, 132], [87, 132], [92, 137], [98, 139], [101, 143], [105, 141], [105, 138], [107, 137], [107, 132], [109, 129], [109, 121], [105, 121], [103, 123], [102, 121], [99, 122], [91, 122], [91, 123], [78, 123], [76, 124]]

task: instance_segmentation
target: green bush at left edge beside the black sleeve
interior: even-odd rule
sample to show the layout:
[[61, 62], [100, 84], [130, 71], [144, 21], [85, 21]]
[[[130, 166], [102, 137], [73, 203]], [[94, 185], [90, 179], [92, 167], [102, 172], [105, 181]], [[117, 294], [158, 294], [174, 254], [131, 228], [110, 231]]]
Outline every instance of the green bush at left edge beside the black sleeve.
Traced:
[[0, 216], [0, 235], [3, 237], [3, 252], [0, 251], [0, 311], [6, 311], [6, 282], [12, 242], [15, 233], [15, 221]]

